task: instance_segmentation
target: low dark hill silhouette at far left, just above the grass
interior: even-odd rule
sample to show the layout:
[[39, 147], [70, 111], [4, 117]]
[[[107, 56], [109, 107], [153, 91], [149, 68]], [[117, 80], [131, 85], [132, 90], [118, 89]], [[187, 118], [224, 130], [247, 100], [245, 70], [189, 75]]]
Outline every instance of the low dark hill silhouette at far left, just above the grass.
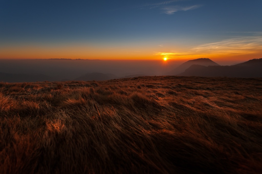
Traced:
[[54, 81], [50, 76], [43, 74], [10, 74], [0, 73], [2, 82], [36, 82], [36, 81]]

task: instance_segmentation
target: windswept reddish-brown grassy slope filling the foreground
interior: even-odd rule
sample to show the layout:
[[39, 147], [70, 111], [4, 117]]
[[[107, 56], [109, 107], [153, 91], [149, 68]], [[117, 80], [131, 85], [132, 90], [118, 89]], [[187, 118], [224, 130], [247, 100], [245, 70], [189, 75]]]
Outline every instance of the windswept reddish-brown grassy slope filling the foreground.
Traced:
[[0, 83], [0, 173], [259, 173], [262, 79]]

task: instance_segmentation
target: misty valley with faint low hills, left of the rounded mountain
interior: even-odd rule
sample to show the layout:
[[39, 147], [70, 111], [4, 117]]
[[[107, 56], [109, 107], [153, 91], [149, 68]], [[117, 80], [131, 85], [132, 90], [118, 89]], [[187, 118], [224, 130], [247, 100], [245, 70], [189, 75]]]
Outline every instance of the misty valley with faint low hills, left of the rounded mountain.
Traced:
[[159, 76], [183, 62], [162, 60], [0, 59], [0, 81], [109, 80]]

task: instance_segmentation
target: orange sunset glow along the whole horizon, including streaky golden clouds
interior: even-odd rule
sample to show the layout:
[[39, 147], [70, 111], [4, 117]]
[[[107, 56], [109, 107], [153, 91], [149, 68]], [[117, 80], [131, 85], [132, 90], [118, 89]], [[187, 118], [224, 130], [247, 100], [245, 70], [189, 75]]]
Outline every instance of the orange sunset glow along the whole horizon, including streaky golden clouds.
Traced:
[[[25, 44], [26, 45], [26, 44]], [[146, 45], [146, 46], [144, 46]], [[213, 61], [247, 61], [262, 57], [262, 36], [227, 39], [194, 47], [126, 44], [124, 46], [91, 44], [58, 44], [26, 46], [6, 45], [0, 48], [0, 59], [101, 59], [101, 60], [192, 60], [210, 58]], [[166, 61], [164, 59], [164, 61]]]

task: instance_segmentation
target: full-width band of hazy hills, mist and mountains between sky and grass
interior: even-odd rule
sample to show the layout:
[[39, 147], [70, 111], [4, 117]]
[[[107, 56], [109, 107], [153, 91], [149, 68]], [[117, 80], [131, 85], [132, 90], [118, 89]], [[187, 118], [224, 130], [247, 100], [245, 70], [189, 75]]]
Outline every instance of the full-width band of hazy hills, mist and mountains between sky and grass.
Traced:
[[[165, 67], [166, 65], [161, 65], [161, 62], [148, 63], [147, 67], [146, 63], [148, 62], [142, 62], [142, 64], [136, 62], [135, 64], [124, 61], [71, 59], [0, 60], [0, 82], [103, 81], [163, 74], [203, 77], [262, 77], [262, 58], [231, 66], [220, 66], [208, 58], [199, 58], [184, 62], [175, 69], [173, 68], [177, 65], [174, 62], [166, 64], [169, 68]], [[130, 67], [129, 64], [131, 64]], [[160, 68], [157, 69], [157, 66]], [[169, 71], [169, 73], [164, 73], [164, 71]]]

